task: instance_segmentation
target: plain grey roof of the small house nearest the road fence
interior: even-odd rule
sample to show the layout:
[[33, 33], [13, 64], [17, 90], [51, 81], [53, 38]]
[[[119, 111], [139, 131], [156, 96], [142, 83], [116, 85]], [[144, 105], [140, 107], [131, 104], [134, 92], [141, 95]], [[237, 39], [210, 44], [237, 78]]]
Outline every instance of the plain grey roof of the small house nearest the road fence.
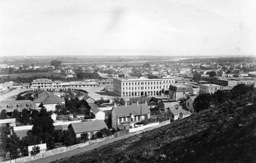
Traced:
[[103, 120], [84, 121], [80, 123], [71, 123], [68, 128], [73, 127], [75, 133], [99, 131], [108, 128]]

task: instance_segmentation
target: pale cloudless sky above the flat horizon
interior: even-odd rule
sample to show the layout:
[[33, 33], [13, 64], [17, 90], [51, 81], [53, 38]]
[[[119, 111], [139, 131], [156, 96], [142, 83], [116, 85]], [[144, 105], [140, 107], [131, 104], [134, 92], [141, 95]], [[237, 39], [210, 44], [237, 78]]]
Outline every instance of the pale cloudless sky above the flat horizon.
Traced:
[[255, 0], [0, 0], [0, 56], [256, 56]]

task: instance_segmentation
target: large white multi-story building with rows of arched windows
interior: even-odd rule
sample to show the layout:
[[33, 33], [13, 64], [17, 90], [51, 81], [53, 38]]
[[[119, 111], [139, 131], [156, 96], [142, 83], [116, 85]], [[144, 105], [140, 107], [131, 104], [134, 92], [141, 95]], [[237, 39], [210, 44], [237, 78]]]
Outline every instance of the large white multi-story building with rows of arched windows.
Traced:
[[162, 89], [168, 90], [169, 85], [174, 83], [175, 77], [170, 76], [157, 79], [114, 78], [113, 91], [119, 97], [159, 96], [164, 94]]

